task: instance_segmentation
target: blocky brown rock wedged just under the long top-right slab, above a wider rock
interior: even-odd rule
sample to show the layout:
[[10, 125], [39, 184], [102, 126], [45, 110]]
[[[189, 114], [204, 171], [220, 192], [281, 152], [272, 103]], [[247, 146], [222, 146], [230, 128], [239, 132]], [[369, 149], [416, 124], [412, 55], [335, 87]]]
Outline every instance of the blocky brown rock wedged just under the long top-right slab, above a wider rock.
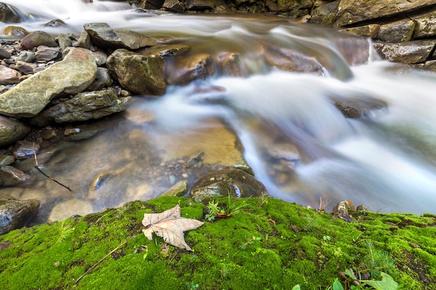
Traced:
[[405, 42], [412, 40], [415, 29], [415, 22], [398, 21], [380, 26], [375, 39], [384, 42]]

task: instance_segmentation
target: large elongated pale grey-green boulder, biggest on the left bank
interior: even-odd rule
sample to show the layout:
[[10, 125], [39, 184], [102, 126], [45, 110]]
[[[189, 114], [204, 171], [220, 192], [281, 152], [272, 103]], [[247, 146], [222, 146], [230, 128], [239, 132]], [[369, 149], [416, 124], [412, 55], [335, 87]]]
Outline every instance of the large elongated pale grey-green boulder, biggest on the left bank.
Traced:
[[47, 69], [33, 74], [0, 95], [0, 113], [31, 117], [61, 94], [77, 94], [95, 79], [97, 65], [91, 51], [74, 48]]

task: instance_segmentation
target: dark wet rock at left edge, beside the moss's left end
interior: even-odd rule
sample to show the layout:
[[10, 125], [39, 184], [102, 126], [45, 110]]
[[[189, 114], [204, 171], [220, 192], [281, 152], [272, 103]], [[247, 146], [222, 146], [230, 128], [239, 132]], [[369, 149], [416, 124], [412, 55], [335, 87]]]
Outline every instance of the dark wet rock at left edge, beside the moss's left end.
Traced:
[[39, 207], [38, 200], [13, 200], [0, 196], [0, 235], [23, 227], [35, 216]]

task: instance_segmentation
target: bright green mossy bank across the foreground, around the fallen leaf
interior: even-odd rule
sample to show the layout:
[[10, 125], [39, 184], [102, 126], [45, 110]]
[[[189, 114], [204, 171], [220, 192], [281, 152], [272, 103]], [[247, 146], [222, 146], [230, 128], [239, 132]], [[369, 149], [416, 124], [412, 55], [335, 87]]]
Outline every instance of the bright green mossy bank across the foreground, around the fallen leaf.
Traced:
[[[232, 202], [250, 205], [209, 222], [208, 201], [164, 197], [14, 230], [0, 236], [0, 289], [328, 289], [336, 278], [346, 286], [345, 268], [375, 270], [364, 268], [375, 252], [389, 256], [394, 266], [382, 271], [405, 289], [436, 289], [435, 215], [360, 212], [346, 223], [274, 198]], [[205, 221], [185, 232], [193, 252], [141, 234], [143, 214], [176, 204]]]

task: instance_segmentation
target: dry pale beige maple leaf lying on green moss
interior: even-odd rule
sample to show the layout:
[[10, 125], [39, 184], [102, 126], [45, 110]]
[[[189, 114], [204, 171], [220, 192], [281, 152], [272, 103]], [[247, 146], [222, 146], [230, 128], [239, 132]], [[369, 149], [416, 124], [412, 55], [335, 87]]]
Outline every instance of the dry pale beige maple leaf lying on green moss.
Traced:
[[146, 227], [142, 229], [142, 232], [149, 240], [153, 239], [154, 232], [157, 236], [162, 237], [166, 243], [189, 251], [191, 248], [185, 242], [183, 232], [203, 225], [200, 220], [180, 217], [179, 205], [160, 214], [144, 214], [142, 224]]

